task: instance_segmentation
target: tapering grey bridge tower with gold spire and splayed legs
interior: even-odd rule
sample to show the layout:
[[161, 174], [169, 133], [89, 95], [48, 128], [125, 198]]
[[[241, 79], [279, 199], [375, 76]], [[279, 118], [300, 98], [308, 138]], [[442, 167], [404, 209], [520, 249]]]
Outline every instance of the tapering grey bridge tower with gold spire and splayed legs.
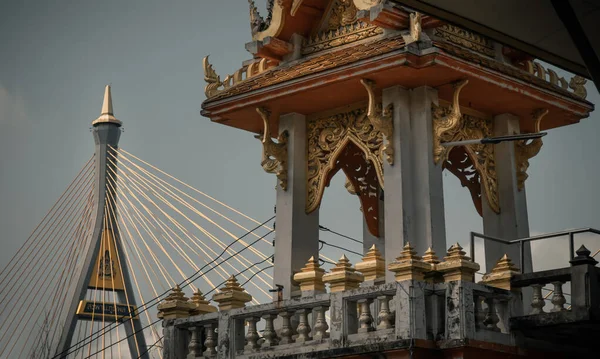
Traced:
[[[103, 317], [125, 322], [125, 332], [132, 358], [148, 358], [146, 341], [137, 316], [137, 306], [132, 290], [127, 262], [124, 260], [117, 208], [108, 196], [109, 187], [116, 188], [115, 149], [119, 144], [122, 122], [113, 113], [110, 86], [104, 92], [100, 116], [92, 122], [95, 142], [95, 189], [93, 193], [94, 230], [92, 241], [85, 253], [81, 272], [77, 277], [75, 295], [70, 299], [68, 316], [62, 330], [57, 355], [66, 358], [73, 345], [73, 335], [78, 321]], [[110, 302], [86, 300], [88, 291], [112, 292]], [[101, 296], [104, 298], [104, 296]], [[126, 323], [129, 321], [129, 323]]]

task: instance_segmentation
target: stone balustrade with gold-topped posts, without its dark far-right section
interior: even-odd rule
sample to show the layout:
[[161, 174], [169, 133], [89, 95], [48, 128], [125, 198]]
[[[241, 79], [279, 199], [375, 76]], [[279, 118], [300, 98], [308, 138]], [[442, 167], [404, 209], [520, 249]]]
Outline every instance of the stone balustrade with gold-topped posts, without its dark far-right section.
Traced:
[[[248, 307], [247, 293], [232, 277], [213, 297], [220, 311], [203, 307], [198, 312], [199, 305], [208, 304], [195, 295], [196, 308], [188, 317], [181, 312], [194, 301], [184, 303], [178, 294], [165, 308], [178, 308], [179, 315], [161, 314], [164, 357], [331, 357], [407, 349], [428, 341], [446, 347], [465, 340], [514, 345], [509, 320], [522, 314], [520, 292], [473, 283], [478, 266], [458, 244], [444, 261], [433, 257], [428, 250], [424, 260], [405, 246], [388, 266], [397, 281], [383, 284], [363, 282], [345, 256], [330, 273], [311, 258], [297, 275], [304, 289], [300, 295]], [[173, 302], [177, 298], [182, 302]]]

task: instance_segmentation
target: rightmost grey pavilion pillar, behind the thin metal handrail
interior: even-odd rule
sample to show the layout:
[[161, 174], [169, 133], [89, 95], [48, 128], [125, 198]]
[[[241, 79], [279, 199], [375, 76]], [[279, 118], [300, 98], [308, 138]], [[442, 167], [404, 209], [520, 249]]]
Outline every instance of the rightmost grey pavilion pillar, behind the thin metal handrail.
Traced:
[[[519, 118], [511, 114], [494, 117], [494, 136], [512, 135], [519, 133]], [[486, 235], [505, 240], [529, 237], [529, 220], [527, 215], [527, 199], [525, 189], [519, 191], [517, 183], [517, 167], [515, 163], [515, 143], [501, 142], [494, 145], [496, 175], [498, 180], [498, 200], [500, 213], [495, 213], [482, 196], [483, 232]], [[482, 189], [483, 192], [483, 189]], [[486, 273], [489, 273], [496, 262], [507, 254], [518, 266], [523, 266], [526, 272], [532, 270], [531, 246], [527, 243], [525, 263], [520, 263], [518, 245], [484, 241]]]

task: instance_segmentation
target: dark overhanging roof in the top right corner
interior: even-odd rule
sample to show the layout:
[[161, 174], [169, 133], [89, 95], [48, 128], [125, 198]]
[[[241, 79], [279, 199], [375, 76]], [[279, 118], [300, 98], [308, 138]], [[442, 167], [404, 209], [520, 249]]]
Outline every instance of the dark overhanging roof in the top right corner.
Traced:
[[600, 85], [598, 0], [392, 0]]

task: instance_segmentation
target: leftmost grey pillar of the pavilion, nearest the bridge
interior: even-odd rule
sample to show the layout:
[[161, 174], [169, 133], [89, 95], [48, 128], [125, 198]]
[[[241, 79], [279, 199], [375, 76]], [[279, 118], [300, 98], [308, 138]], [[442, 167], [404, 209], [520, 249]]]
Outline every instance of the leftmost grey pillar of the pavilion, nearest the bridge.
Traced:
[[[287, 191], [277, 186], [274, 284], [283, 285], [283, 298], [300, 296], [293, 281], [306, 261], [319, 255], [319, 211], [307, 215], [306, 117], [290, 113], [279, 118], [279, 131], [288, 131]], [[277, 293], [274, 294], [277, 300]]]

